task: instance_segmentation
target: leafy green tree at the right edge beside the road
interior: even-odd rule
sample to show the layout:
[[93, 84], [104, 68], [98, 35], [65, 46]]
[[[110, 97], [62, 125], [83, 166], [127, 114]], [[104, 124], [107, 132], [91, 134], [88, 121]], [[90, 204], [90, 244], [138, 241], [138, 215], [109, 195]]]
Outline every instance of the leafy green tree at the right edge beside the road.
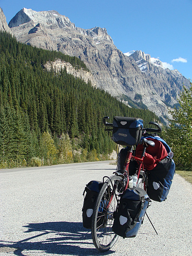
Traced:
[[192, 171], [192, 86], [183, 86], [178, 103], [179, 108], [170, 111], [171, 125], [164, 136], [174, 153], [176, 167]]

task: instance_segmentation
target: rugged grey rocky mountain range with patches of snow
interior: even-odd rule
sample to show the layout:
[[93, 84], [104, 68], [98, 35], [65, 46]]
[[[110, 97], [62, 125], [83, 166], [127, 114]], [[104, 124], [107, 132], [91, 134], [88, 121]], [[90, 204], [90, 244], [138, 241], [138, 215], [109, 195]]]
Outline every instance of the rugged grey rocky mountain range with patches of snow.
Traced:
[[[86, 77], [85, 81], [89, 79], [92, 85], [130, 106], [154, 111], [164, 122], [169, 117], [168, 107], [177, 104], [183, 84], [190, 85], [179, 71], [164, 68], [161, 61], [141, 50], [121, 52], [106, 28], [76, 27], [68, 17], [56, 11], [36, 12], [23, 8], [7, 25], [0, 10], [0, 30], [12, 33], [25, 44], [80, 58], [90, 73], [77, 76]], [[52, 64], [57, 68], [67, 65], [60, 60]]]

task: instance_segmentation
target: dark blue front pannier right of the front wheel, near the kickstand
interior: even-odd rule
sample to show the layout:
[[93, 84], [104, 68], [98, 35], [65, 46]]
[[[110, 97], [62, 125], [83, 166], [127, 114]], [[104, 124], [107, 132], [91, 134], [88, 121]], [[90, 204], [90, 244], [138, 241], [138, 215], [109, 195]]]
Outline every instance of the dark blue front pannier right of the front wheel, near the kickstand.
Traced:
[[120, 198], [112, 230], [123, 238], [135, 237], [139, 231], [149, 196], [142, 188], [128, 188]]

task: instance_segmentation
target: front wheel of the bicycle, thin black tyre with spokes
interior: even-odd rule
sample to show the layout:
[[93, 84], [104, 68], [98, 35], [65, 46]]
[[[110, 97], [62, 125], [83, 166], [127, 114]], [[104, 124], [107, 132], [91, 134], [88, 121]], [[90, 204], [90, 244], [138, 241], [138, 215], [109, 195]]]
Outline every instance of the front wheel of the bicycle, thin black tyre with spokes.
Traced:
[[123, 188], [123, 178], [112, 175], [98, 195], [92, 218], [92, 238], [100, 252], [108, 251], [119, 237], [112, 231], [112, 226]]

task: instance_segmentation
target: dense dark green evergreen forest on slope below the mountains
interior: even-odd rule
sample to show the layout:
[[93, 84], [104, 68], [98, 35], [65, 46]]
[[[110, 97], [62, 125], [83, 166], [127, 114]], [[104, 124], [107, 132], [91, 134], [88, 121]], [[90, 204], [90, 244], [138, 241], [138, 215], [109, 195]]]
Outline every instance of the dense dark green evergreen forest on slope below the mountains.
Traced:
[[65, 69], [48, 71], [45, 63], [56, 59], [88, 71], [76, 57], [0, 32], [0, 168], [107, 159], [116, 145], [104, 116], [158, 122], [155, 113], [130, 108]]

